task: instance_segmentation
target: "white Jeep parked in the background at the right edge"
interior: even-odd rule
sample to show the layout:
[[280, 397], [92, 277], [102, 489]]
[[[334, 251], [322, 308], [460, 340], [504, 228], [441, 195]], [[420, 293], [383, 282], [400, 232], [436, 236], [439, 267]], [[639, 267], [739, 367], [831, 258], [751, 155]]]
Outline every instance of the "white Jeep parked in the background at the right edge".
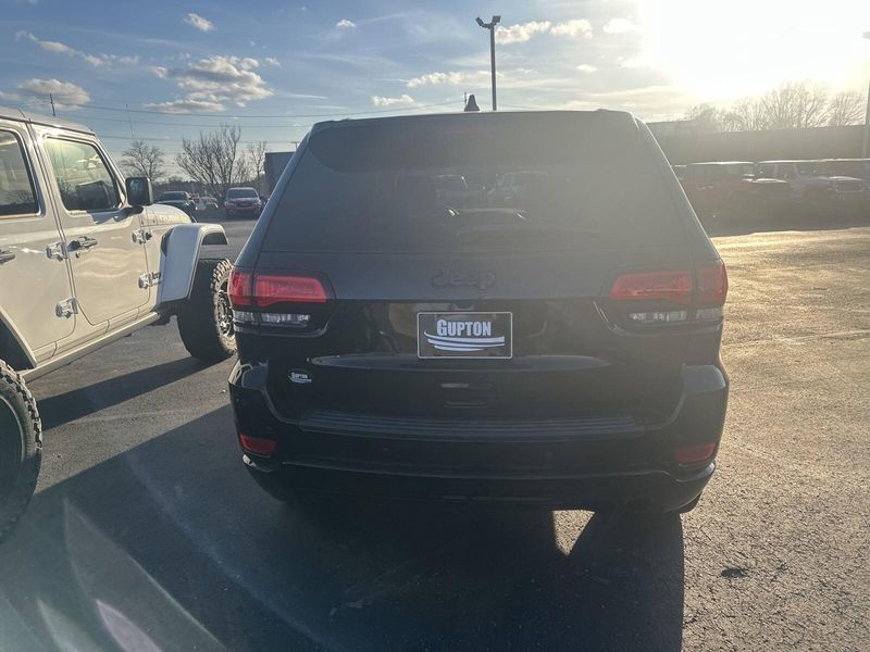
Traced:
[[830, 161], [761, 161], [758, 174], [788, 181], [793, 203], [815, 214], [859, 209], [865, 181], [837, 174]]

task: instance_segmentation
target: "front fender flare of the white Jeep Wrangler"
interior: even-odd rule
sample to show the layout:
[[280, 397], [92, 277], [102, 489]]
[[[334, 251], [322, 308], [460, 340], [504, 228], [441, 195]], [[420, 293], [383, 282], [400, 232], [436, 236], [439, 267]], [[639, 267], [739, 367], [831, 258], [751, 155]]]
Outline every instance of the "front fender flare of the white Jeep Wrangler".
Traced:
[[179, 224], [161, 243], [158, 306], [190, 297], [202, 244], [227, 244], [220, 224]]

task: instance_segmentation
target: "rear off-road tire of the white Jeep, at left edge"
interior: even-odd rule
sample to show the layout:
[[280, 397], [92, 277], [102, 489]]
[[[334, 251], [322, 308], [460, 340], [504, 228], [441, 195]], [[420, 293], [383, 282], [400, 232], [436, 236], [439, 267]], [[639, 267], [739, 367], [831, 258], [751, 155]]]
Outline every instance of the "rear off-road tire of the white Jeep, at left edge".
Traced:
[[0, 541], [30, 502], [42, 462], [42, 423], [24, 379], [0, 360]]

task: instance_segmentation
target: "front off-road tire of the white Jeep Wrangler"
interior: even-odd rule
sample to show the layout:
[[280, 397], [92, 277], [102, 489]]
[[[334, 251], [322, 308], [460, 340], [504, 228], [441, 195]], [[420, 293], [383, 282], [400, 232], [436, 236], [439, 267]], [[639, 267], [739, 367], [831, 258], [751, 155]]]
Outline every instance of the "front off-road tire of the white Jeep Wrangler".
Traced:
[[187, 352], [215, 363], [236, 353], [227, 283], [233, 265], [226, 259], [197, 263], [190, 298], [178, 306], [178, 333]]

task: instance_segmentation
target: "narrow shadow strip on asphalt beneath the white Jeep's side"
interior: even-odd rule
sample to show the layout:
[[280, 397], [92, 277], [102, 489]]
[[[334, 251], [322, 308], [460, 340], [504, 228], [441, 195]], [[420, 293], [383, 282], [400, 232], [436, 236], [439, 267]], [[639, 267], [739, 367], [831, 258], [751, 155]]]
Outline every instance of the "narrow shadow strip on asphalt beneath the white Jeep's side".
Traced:
[[[208, 368], [208, 365], [192, 358], [182, 358], [120, 376], [112, 376], [84, 387], [76, 387], [64, 393], [39, 397], [42, 428], [48, 430], [99, 410], [123, 403], [204, 368]], [[39, 393], [39, 390], [40, 386], [36, 385], [36, 393]]]

